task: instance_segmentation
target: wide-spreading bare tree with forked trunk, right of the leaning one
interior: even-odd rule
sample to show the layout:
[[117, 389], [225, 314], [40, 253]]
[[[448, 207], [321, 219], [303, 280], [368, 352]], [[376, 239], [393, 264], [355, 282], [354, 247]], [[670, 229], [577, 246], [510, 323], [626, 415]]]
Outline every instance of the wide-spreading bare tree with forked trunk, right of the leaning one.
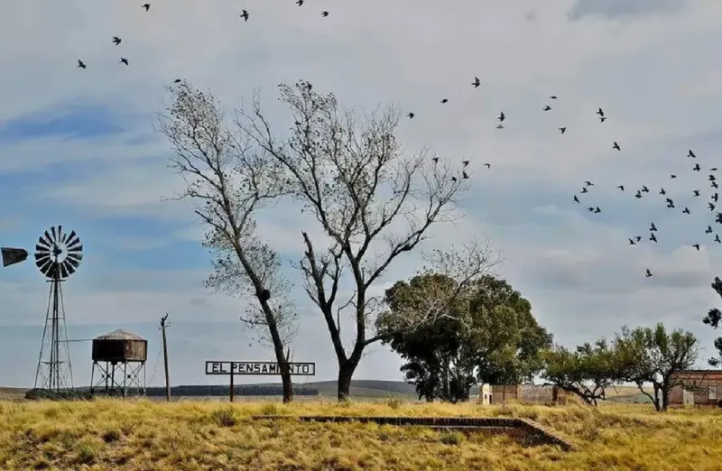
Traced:
[[[358, 119], [309, 82], [281, 85], [280, 91], [293, 115], [289, 138], [273, 134], [257, 96], [252, 112], [240, 110], [236, 122], [288, 172], [295, 198], [331, 241], [321, 246], [303, 233], [300, 268], [306, 292], [326, 320], [338, 359], [338, 399], [345, 400], [364, 349], [383, 338], [369, 331], [381, 311], [381, 297], [369, 289], [394, 260], [428, 237], [430, 226], [457, 217], [456, 198], [467, 180], [427, 151], [405, 153], [394, 137], [400, 114], [393, 107]], [[345, 273], [354, 294], [339, 301]], [[350, 352], [334, 315], [346, 304], [356, 327]]]

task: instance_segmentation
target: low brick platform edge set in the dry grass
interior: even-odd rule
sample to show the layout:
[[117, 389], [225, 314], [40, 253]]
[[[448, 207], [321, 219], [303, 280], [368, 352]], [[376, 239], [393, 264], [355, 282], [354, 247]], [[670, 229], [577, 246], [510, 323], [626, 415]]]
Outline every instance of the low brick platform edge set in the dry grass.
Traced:
[[562, 439], [551, 429], [527, 419], [506, 417], [354, 417], [338, 415], [320, 416], [289, 416], [289, 415], [256, 415], [253, 420], [301, 420], [306, 422], [361, 422], [398, 427], [419, 426], [432, 429], [454, 429], [465, 433], [504, 433], [520, 439], [526, 445], [557, 445], [564, 451], [572, 451], [575, 447], [569, 440]]

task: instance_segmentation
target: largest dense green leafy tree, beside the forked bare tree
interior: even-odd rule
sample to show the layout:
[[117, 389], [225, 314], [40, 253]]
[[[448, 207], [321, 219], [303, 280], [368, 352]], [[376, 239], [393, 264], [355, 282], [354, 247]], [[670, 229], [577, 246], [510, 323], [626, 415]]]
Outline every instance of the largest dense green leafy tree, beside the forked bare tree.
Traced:
[[[479, 382], [529, 380], [542, 368], [540, 350], [551, 345], [531, 303], [488, 274], [467, 283], [446, 274], [419, 275], [394, 284], [386, 302], [390, 309], [380, 318], [379, 331], [389, 332], [386, 343], [407, 360], [406, 381], [427, 401], [467, 401]], [[394, 328], [410, 311], [426, 312], [430, 306], [440, 311], [433, 322]]]

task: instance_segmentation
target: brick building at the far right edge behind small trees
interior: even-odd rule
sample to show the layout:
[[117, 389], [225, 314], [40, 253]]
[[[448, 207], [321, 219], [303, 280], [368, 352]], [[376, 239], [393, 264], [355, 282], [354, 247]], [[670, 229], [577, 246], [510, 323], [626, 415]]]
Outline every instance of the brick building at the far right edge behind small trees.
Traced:
[[671, 388], [671, 406], [722, 407], [722, 370], [685, 370], [672, 378], [687, 387]]

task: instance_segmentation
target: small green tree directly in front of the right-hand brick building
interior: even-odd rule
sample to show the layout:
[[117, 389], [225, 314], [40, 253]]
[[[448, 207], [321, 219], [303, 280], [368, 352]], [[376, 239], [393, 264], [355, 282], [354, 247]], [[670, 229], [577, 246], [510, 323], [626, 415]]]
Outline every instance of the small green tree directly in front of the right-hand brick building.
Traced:
[[[656, 411], [666, 411], [675, 386], [696, 390], [699, 385], [684, 372], [699, 358], [699, 340], [680, 329], [667, 332], [662, 323], [654, 328], [626, 326], [616, 335], [614, 348], [619, 361], [619, 380], [634, 383], [649, 397]], [[643, 389], [651, 383], [653, 393]]]

